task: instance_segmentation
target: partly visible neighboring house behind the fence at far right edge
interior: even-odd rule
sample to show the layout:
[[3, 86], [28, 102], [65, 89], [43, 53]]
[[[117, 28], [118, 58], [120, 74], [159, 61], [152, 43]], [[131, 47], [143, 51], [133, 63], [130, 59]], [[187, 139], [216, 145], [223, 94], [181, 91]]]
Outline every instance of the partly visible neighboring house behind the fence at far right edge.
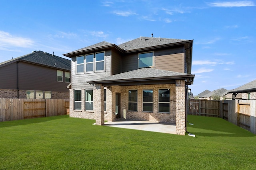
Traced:
[[232, 94], [237, 98], [239, 94], [242, 94], [242, 99], [256, 99], [256, 80], [248, 82], [238, 88], [229, 90], [228, 93]]

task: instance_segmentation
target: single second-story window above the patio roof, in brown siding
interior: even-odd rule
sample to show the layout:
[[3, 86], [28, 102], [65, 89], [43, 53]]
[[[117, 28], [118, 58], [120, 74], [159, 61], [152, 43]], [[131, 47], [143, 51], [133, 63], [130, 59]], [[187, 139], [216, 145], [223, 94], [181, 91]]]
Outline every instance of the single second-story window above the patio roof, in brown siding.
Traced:
[[154, 67], [155, 57], [153, 51], [149, 53], [139, 53], [139, 68], [143, 67]]

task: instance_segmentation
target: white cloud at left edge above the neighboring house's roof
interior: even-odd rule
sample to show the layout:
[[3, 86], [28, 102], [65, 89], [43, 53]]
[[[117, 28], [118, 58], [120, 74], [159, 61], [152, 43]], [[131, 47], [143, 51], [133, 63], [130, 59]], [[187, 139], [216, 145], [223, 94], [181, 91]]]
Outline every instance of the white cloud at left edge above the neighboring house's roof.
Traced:
[[11, 35], [8, 32], [0, 31], [0, 48], [10, 51], [10, 47], [31, 47], [34, 41], [29, 38]]

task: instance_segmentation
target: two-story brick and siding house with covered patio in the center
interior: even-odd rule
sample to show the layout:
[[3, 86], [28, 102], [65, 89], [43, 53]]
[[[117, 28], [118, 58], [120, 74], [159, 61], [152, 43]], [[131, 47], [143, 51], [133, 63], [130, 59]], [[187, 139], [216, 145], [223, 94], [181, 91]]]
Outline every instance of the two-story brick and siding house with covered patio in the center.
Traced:
[[70, 117], [175, 123], [185, 135], [193, 40], [139, 37], [64, 54], [72, 59]]

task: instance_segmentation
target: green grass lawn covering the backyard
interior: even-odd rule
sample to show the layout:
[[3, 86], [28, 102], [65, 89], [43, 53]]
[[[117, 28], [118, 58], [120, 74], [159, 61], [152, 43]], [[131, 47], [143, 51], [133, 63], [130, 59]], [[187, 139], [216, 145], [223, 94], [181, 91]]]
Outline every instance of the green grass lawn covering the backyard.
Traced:
[[0, 170], [256, 169], [256, 135], [188, 115], [196, 137], [92, 125], [68, 115], [0, 122]]

